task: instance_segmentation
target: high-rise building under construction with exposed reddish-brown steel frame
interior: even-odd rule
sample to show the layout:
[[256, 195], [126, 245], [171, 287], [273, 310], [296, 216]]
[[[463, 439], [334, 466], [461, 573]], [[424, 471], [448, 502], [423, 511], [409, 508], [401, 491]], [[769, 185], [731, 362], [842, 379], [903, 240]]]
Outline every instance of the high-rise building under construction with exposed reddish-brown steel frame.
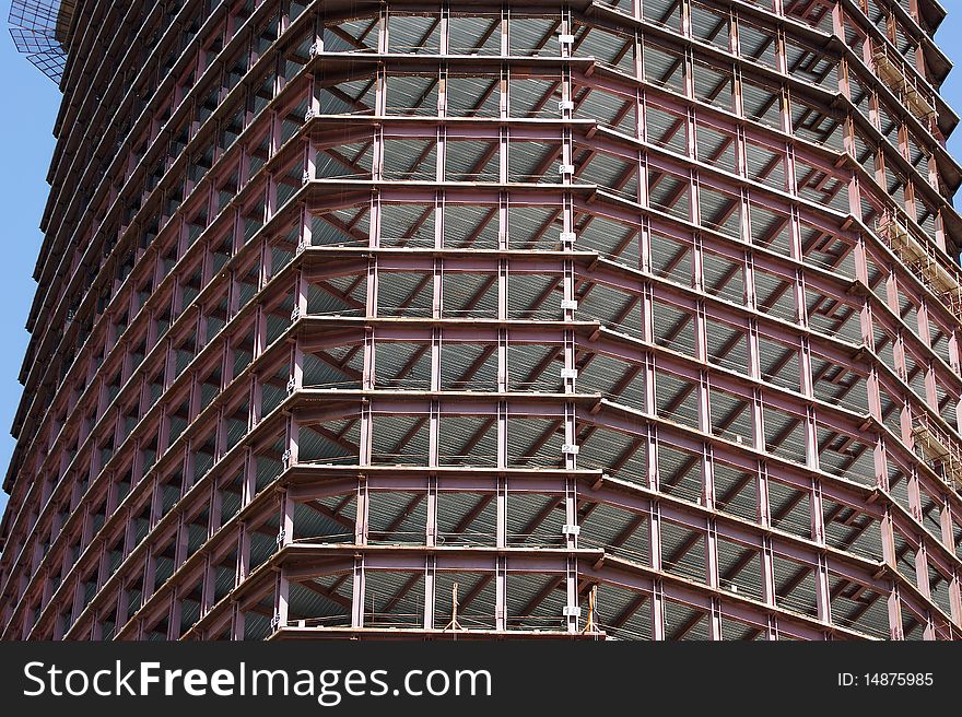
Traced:
[[0, 634], [962, 637], [945, 14], [16, 0]]

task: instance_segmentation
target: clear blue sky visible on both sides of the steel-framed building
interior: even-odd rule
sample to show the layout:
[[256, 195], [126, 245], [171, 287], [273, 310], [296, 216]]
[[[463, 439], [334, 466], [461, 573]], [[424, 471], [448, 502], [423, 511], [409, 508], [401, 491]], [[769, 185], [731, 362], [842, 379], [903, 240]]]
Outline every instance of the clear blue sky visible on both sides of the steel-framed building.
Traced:
[[[954, 3], [950, 3], [954, 4]], [[3, 0], [0, 15], [5, 20], [10, 2]], [[941, 42], [957, 66], [962, 66], [962, 10], [950, 11], [939, 30]], [[10, 426], [20, 401], [16, 377], [26, 348], [24, 329], [36, 284], [33, 270], [42, 235], [37, 228], [47, 199], [47, 167], [54, 151], [52, 128], [60, 94], [54, 82], [19, 55], [5, 31], [0, 34], [0, 86], [4, 96], [0, 111], [0, 216], [5, 245], [0, 262], [0, 478], [5, 475], [13, 438]], [[949, 104], [962, 114], [962, 69], [955, 70], [943, 87]], [[962, 157], [962, 129], [950, 142]], [[0, 491], [0, 512], [7, 495]]]

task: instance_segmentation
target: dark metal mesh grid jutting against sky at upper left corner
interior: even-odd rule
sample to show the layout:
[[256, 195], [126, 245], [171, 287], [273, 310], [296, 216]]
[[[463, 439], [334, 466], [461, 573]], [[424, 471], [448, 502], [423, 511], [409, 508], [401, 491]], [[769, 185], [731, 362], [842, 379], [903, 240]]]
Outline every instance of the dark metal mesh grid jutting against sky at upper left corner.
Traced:
[[67, 64], [69, 25], [74, 0], [13, 0], [10, 35], [16, 49], [48, 78], [59, 83]]

